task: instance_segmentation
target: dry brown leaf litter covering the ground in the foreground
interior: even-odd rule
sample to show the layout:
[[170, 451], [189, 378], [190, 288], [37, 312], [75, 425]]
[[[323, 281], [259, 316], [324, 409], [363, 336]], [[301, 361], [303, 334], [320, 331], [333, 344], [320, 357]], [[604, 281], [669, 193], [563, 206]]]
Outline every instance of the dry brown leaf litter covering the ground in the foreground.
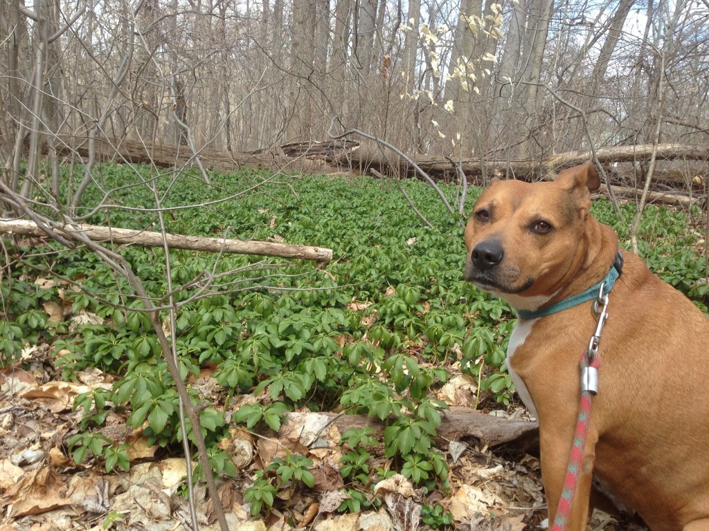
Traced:
[[[127, 413], [109, 413], [102, 431], [108, 438], [128, 445], [128, 472], [106, 473], [104, 463], [97, 459], [74, 463], [67, 449], [68, 438], [80, 431], [81, 413], [72, 411], [74, 398], [96, 387], [110, 389], [112, 377], [96, 370], [80, 373], [77, 382], [62, 382], [50, 352], [48, 346], [28, 348], [22, 360], [25, 368], [5, 367], [0, 373], [0, 531], [192, 529], [184, 496], [184, 458], [149, 446], [142, 429], [132, 430], [126, 424]], [[223, 392], [208, 373], [193, 386], [213, 404], [223, 403]], [[439, 398], [465, 402], [471, 392], [470, 382], [461, 380], [447, 389], [447, 396]], [[237, 408], [246, 400], [253, 397], [237, 397], [229, 407]], [[516, 406], [488, 413], [513, 418], [527, 415]], [[231, 530], [415, 531], [418, 526], [522, 531], [547, 527], [540, 464], [534, 448], [530, 453], [509, 452], [506, 447], [491, 449], [484, 444], [454, 441], [440, 448], [450, 464], [447, 491], [416, 490], [406, 478], [396, 475], [377, 484], [376, 495], [367, 493], [368, 500], [383, 500], [381, 504], [340, 513], [337, 508], [347, 499], [338, 470], [345, 452], [339, 444], [341, 433], [335, 423], [320, 424], [316, 428], [321, 432], [320, 444], [306, 447], [303, 436], [313, 422], [318, 422], [313, 414], [291, 413], [278, 434], [231, 430], [233, 437], [224, 441], [223, 449], [233, 456], [238, 474], [224, 477], [220, 483]], [[252, 484], [255, 470], [289, 450], [298, 450], [313, 460], [315, 486], [308, 489], [303, 484], [285, 484], [277, 495], [277, 508], [265, 518], [252, 518], [243, 492]], [[371, 469], [387, 466], [381, 450], [372, 451]], [[213, 506], [203, 486], [194, 489], [194, 499], [199, 528], [217, 530]], [[450, 523], [429, 510], [419, 525], [416, 515], [423, 503], [445, 508]], [[589, 528], [643, 529], [618, 523], [598, 510]]]

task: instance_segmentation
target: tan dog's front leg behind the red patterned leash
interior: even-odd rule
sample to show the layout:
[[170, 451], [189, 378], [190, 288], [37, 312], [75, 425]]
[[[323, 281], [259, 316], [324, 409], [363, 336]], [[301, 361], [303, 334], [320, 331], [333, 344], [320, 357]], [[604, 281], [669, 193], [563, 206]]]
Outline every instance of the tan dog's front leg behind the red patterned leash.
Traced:
[[[541, 428], [541, 427], [540, 427]], [[559, 499], [564, 496], [565, 503], [569, 501], [569, 489], [571, 484], [567, 484], [566, 472], [569, 468], [569, 456], [571, 455], [572, 438], [569, 437], [568, 430], [551, 428], [550, 430], [540, 429], [540, 450], [542, 453], [542, 480], [544, 482], [545, 493], [547, 495], [547, 508], [549, 510], [549, 527], [554, 525], [557, 518], [557, 508]], [[593, 480], [593, 462], [596, 459], [596, 441], [598, 437], [589, 430], [586, 445], [581, 459], [581, 469], [579, 478], [576, 481], [576, 488], [573, 496], [571, 510], [559, 513], [560, 517], [564, 513], [568, 515], [566, 530], [585, 531], [588, 522], [588, 507], [591, 496], [591, 482]], [[563, 506], [562, 506], [563, 507]]]

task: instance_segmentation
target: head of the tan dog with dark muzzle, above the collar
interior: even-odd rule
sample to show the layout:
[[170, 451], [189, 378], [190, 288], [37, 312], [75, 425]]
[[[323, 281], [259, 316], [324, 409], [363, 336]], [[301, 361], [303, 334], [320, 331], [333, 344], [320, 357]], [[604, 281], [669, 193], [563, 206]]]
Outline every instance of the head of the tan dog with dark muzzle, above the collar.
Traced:
[[465, 280], [517, 309], [543, 304], [584, 263], [600, 184], [590, 161], [551, 183], [494, 179], [465, 227]]

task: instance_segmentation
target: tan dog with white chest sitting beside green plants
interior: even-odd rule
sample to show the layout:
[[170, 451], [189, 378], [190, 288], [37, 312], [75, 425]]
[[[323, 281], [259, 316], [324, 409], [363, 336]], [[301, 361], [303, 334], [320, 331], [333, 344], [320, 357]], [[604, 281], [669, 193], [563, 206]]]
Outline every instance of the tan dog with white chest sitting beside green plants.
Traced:
[[[466, 280], [523, 314], [601, 282], [618, 236], [588, 212], [599, 185], [590, 162], [553, 183], [493, 181], [465, 229]], [[709, 319], [637, 255], [622, 255], [567, 529], [586, 529], [595, 476], [653, 531], [709, 530]], [[520, 315], [510, 336], [508, 370], [540, 423], [550, 524], [579, 411], [579, 359], [598, 322], [593, 304]]]

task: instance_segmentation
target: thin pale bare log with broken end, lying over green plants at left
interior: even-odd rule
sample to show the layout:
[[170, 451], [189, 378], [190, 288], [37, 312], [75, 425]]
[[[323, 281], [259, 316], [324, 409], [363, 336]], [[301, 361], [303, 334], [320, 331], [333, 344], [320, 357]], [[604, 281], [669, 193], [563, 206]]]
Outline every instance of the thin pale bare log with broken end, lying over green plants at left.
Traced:
[[[206, 251], [208, 253], [255, 254], [258, 256], [277, 256], [279, 258], [297, 258], [326, 263], [333, 259], [333, 250], [324, 247], [306, 245], [279, 244], [272, 241], [236, 240], [209, 238], [206, 236], [187, 236], [184, 234], [162, 234], [161, 232], [99, 227], [98, 225], [79, 224], [52, 226], [52, 229], [69, 238], [72, 233], [82, 232], [93, 241], [113, 244], [135, 244], [145, 247], [162, 247], [165, 243], [170, 249]], [[0, 233], [21, 234], [23, 236], [46, 236], [34, 222], [23, 219], [0, 219]]]

